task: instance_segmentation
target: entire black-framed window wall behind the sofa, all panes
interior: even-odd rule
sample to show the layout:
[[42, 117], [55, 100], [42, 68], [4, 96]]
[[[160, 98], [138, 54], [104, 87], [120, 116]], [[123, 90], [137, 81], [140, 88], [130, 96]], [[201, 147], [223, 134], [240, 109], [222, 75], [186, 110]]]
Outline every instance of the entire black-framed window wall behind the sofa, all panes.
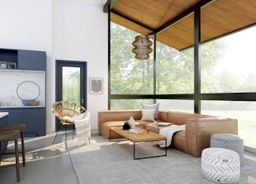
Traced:
[[[201, 45], [200, 90], [196, 94], [201, 114], [237, 118], [238, 135], [245, 146], [254, 148], [256, 100], [250, 93], [256, 92], [255, 33], [256, 28], [250, 27]], [[198, 72], [194, 71], [194, 47], [176, 50], [156, 42], [156, 60], [150, 54], [150, 59], [138, 61], [131, 52], [137, 35], [111, 22], [110, 109], [140, 109], [142, 102], [159, 102], [163, 110], [193, 113], [194, 76]], [[230, 100], [225, 94], [243, 98]]]

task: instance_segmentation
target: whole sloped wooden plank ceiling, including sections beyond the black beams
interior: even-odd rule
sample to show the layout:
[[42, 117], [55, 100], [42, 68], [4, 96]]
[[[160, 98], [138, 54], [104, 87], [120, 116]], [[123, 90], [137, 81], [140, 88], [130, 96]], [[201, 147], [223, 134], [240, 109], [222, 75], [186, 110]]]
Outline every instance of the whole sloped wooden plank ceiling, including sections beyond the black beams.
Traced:
[[194, 46], [193, 10], [198, 6], [201, 42], [256, 24], [255, 0], [115, 0], [110, 20], [140, 34], [156, 34], [159, 42], [184, 50]]

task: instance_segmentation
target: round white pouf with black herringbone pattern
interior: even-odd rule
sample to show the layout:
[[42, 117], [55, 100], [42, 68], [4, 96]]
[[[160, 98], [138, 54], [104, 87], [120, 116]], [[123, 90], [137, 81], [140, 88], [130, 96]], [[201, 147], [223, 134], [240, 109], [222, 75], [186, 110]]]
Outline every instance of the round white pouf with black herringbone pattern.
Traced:
[[202, 177], [213, 182], [235, 183], [240, 178], [239, 155], [234, 150], [211, 147], [202, 150]]

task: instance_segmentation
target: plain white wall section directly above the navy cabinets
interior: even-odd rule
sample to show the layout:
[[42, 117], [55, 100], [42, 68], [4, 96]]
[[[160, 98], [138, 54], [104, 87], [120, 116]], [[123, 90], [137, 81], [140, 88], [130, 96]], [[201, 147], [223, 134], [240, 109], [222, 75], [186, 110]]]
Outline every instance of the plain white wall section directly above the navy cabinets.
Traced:
[[52, 50], [51, 0], [0, 0], [0, 47]]

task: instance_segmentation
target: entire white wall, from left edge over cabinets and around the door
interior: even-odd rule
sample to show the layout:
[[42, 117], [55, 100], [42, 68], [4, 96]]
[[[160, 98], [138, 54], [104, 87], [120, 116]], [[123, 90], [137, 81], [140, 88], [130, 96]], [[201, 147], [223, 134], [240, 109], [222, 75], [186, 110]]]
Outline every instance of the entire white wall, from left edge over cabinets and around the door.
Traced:
[[[104, 78], [103, 94], [87, 94], [91, 127], [107, 109], [106, 0], [0, 0], [0, 48], [46, 51], [46, 131], [54, 131], [55, 59], [86, 61], [87, 77]], [[88, 86], [89, 89], [89, 86]]]

